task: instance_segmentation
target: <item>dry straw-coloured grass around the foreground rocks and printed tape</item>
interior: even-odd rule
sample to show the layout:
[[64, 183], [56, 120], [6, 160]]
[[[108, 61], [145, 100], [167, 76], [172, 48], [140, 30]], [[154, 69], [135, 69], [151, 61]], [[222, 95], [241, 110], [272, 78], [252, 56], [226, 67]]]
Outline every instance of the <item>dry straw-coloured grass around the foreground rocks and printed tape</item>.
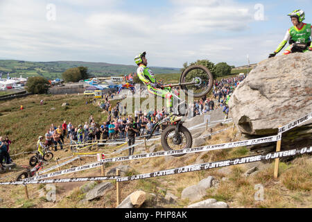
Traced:
[[[217, 126], [214, 130], [220, 130], [228, 126]], [[204, 131], [204, 130], [203, 130]], [[207, 134], [207, 131], [202, 134]], [[211, 139], [206, 139], [206, 144], [221, 144], [223, 142], [239, 141], [237, 130], [223, 131], [218, 135], [214, 135]], [[156, 144], [157, 150], [162, 151], [162, 147], [158, 142], [148, 142], [148, 148]], [[110, 153], [116, 148], [103, 149], [103, 152]], [[145, 151], [144, 144], [135, 148], [135, 154]], [[128, 151], [114, 156], [125, 156]], [[63, 158], [71, 155], [70, 151], [55, 152], [55, 156]], [[182, 157], [154, 157], [141, 160], [131, 160], [124, 162], [112, 162], [105, 164], [105, 172], [110, 171], [112, 167], [118, 165], [128, 165], [130, 170], [125, 174], [126, 176], [137, 175], [140, 173], [150, 173], [164, 169], [173, 169], [176, 167], [183, 167], [198, 162], [214, 162], [218, 160], [226, 160], [233, 157], [242, 157], [251, 155], [248, 148], [245, 146], [236, 147], [231, 149], [223, 149], [219, 151], [209, 151], [202, 153], [193, 153], [184, 155]], [[30, 155], [24, 159], [19, 159], [16, 163], [27, 164]], [[311, 196], [311, 173], [312, 162], [311, 157], [304, 155], [297, 157], [291, 162], [281, 162], [279, 164], [279, 178], [273, 178], [274, 161], [267, 163], [251, 163], [242, 164], [231, 167], [223, 167], [219, 169], [207, 169], [204, 171], [195, 171], [189, 173], [180, 173], [171, 176], [161, 176], [155, 178], [148, 178], [142, 180], [132, 180], [121, 182], [121, 200], [124, 200], [129, 194], [138, 189], [145, 191], [147, 194], [153, 194], [157, 200], [150, 198], [144, 203], [147, 208], [154, 207], [168, 207], [168, 208], [183, 208], [190, 205], [189, 199], [182, 200], [182, 191], [189, 186], [196, 185], [200, 180], [208, 176], [214, 176], [218, 181], [218, 185], [206, 189], [205, 196], [200, 200], [207, 200], [208, 198], [215, 198], [218, 201], [225, 201], [229, 207], [233, 208], [249, 208], [249, 207], [312, 207]], [[94, 157], [83, 157], [82, 164], [94, 162]], [[48, 167], [53, 166], [55, 163], [50, 162]], [[71, 166], [78, 166], [78, 162], [73, 162], [62, 169], [69, 169]], [[258, 164], [259, 171], [252, 176], [245, 177], [244, 173], [250, 167]], [[19, 169], [20, 171], [21, 169]], [[16, 169], [17, 171], [17, 169]], [[11, 172], [12, 173], [12, 172]], [[15, 172], [16, 173], [16, 172]], [[100, 176], [101, 169], [89, 169], [80, 171], [78, 173], [69, 173], [62, 178], [71, 177], [87, 177], [87, 176]], [[4, 175], [6, 176], [6, 175]], [[106, 181], [105, 181], [106, 182]], [[108, 208], [116, 207], [116, 182], [109, 180], [114, 185], [114, 189], [107, 191], [104, 196], [96, 200], [81, 202], [86, 196], [80, 187], [87, 182], [71, 182], [71, 183], [58, 183], [54, 184], [56, 187], [56, 200], [51, 202], [46, 200], [46, 196], [42, 196], [42, 189], [47, 189], [45, 185], [28, 185], [29, 199], [25, 197], [24, 187], [19, 186], [2, 186], [1, 198], [3, 203], [1, 207], [24, 207], [24, 208], [37, 208], [37, 207], [62, 207], [62, 208], [76, 208], [76, 207], [89, 207], [89, 208]], [[96, 182], [99, 183], [99, 182]], [[255, 192], [258, 191], [255, 187], [257, 185], [263, 186], [263, 200], [256, 200], [254, 198]], [[47, 191], [46, 191], [47, 192]], [[166, 194], [177, 196], [177, 203], [166, 204], [162, 199]], [[196, 201], [199, 202], [200, 200]]]

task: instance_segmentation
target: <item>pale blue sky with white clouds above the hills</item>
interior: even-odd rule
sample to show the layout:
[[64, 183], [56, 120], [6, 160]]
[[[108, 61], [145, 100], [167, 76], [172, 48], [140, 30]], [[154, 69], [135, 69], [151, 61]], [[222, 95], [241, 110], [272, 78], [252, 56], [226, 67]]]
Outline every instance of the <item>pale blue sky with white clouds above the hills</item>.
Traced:
[[312, 1], [0, 0], [0, 58], [182, 67], [208, 59], [245, 65], [268, 57]]

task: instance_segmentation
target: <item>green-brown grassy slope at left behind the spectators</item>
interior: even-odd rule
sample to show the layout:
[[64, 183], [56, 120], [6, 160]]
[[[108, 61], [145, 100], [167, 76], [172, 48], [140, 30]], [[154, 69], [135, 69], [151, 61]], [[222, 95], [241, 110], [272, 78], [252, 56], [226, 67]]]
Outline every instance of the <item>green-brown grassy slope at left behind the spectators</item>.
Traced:
[[[43, 99], [44, 105], [40, 105]], [[96, 122], [106, 121], [107, 114], [93, 104], [85, 104], [83, 96], [33, 95], [22, 99], [1, 102], [0, 104], [0, 135], [8, 135], [12, 139], [12, 153], [35, 149], [37, 137], [44, 136], [51, 123], [62, 125], [63, 121], [71, 121], [73, 126], [84, 124], [92, 115]], [[69, 106], [62, 107], [62, 103]], [[116, 101], [112, 101], [115, 105]], [[24, 105], [24, 110], [19, 110]], [[55, 110], [51, 110], [55, 108]]]

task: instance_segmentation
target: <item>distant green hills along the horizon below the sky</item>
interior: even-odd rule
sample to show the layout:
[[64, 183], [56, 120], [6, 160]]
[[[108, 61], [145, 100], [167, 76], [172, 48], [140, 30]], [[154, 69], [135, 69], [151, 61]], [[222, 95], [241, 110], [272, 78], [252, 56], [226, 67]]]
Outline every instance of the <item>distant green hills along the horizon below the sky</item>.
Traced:
[[[22, 60], [0, 60], [0, 73], [3, 78], [9, 72], [10, 77], [24, 78], [30, 76], [44, 76], [51, 80], [62, 78], [62, 73], [73, 67], [88, 67], [91, 76], [122, 76], [137, 71], [135, 65], [116, 65], [105, 62], [79, 62], [79, 61], [55, 61], [55, 62], [28, 62]], [[176, 74], [177, 68], [150, 67], [155, 74]]]

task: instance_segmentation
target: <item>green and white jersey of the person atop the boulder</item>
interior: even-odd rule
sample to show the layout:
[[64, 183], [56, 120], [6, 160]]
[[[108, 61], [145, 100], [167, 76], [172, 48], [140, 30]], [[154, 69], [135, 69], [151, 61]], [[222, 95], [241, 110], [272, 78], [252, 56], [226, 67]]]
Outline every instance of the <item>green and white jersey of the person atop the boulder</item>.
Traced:
[[[281, 43], [279, 44], [279, 46], [277, 46], [277, 49], [275, 49], [274, 52], [279, 53], [279, 51], [284, 48], [284, 46], [290, 39], [295, 42], [308, 43], [311, 42], [310, 37], [312, 38], [311, 24], [304, 23], [304, 25], [300, 29], [298, 29], [296, 26], [293, 26], [288, 29], [284, 36], [284, 40], [281, 41]], [[312, 44], [310, 45], [310, 47], [312, 47]]]

